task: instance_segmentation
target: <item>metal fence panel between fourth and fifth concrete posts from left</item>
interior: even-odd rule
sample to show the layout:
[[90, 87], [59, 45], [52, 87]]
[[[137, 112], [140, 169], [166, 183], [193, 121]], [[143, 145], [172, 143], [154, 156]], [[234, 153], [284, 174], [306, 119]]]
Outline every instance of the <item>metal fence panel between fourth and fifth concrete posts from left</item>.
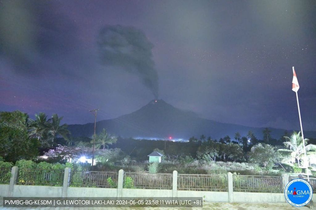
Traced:
[[226, 174], [179, 174], [178, 190], [228, 191]]

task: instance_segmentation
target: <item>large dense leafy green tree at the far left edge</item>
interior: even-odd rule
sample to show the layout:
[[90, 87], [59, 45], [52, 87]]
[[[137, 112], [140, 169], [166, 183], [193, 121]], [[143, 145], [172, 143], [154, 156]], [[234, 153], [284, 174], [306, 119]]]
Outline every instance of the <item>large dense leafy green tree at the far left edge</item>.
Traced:
[[0, 112], [0, 156], [6, 161], [38, 155], [38, 141], [27, 132], [28, 115], [20, 111]]

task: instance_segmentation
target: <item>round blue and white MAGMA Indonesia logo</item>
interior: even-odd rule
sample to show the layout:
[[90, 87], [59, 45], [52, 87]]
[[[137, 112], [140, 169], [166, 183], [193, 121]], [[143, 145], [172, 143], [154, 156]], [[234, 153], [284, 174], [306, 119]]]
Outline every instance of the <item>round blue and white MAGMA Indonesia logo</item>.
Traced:
[[311, 201], [313, 190], [306, 180], [293, 179], [286, 185], [284, 194], [289, 204], [295, 207], [302, 207]]

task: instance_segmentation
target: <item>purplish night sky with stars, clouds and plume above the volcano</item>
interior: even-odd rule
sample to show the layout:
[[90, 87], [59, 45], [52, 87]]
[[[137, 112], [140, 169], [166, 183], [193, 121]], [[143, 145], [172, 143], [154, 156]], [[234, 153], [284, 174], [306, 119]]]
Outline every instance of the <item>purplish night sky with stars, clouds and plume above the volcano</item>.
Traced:
[[0, 110], [64, 123], [154, 98], [200, 117], [316, 131], [316, 1], [0, 0]]

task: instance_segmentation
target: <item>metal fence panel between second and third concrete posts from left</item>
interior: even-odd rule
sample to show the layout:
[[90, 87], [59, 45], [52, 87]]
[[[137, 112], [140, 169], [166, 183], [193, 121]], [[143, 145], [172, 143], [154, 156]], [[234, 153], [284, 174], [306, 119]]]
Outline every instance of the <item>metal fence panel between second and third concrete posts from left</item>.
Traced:
[[117, 172], [72, 171], [69, 186], [116, 188], [117, 184]]

